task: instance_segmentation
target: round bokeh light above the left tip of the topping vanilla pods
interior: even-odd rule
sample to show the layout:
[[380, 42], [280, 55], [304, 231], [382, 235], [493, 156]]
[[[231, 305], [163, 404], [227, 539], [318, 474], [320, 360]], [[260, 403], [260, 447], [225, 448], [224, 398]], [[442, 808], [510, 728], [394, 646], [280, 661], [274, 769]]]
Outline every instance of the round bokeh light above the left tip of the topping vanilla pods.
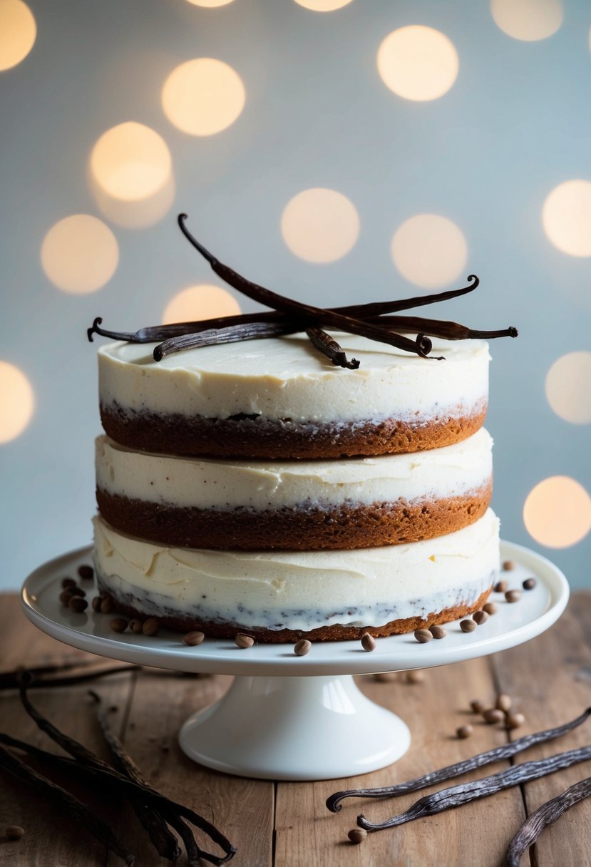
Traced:
[[53, 225], [41, 246], [41, 264], [58, 289], [84, 295], [101, 289], [119, 263], [113, 232], [90, 214], [73, 214]]

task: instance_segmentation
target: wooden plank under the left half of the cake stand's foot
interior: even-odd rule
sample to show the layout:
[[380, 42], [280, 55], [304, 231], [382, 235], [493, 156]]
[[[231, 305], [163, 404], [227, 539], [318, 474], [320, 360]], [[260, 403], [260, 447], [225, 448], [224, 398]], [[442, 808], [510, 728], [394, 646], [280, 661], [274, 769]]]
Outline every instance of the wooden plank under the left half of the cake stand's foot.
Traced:
[[[232, 864], [270, 867], [274, 785], [242, 779], [199, 766], [185, 756], [177, 735], [185, 720], [217, 701], [231, 682], [224, 675], [176, 677], [155, 670], [137, 679], [124, 734], [127, 750], [146, 779], [168, 797], [190, 806], [223, 831], [237, 847]], [[202, 848], [217, 851], [204, 835]], [[161, 864], [142, 838], [133, 838], [142, 867]], [[109, 856], [107, 864], [115, 867]]]

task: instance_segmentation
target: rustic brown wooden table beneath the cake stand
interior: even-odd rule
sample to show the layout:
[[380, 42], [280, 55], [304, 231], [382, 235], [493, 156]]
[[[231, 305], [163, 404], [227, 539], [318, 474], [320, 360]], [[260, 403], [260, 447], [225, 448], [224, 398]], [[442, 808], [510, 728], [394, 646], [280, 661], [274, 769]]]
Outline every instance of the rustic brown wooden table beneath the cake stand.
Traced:
[[[576, 593], [552, 629], [521, 647], [427, 670], [424, 681], [416, 684], [407, 682], [404, 675], [388, 675], [389, 681], [377, 681], [371, 675], [360, 678], [368, 696], [395, 708], [411, 724], [412, 746], [403, 759], [382, 771], [317, 783], [240, 779], [209, 771], [185, 758], [176, 740], [181, 723], [223, 694], [229, 676], [183, 677], [144, 669], [95, 681], [94, 688], [108, 706], [117, 706], [112, 713], [115, 730], [146, 778], [218, 825], [237, 846], [232, 862], [237, 867], [492, 867], [503, 864], [507, 844], [528, 813], [588, 777], [588, 763], [528, 783], [523, 789], [509, 789], [474, 805], [374, 833], [360, 845], [347, 841], [347, 831], [355, 826], [358, 813], [379, 821], [406, 809], [419, 795], [385, 801], [350, 799], [338, 814], [328, 812], [325, 800], [341, 789], [392, 785], [505, 742], [510, 735], [503, 728], [485, 725], [469, 712], [471, 699], [492, 704], [498, 693], [510, 694], [527, 717], [527, 723], [514, 736], [573, 719], [591, 699], [590, 648], [591, 594]], [[31, 626], [16, 595], [0, 596], [0, 649], [3, 669], [93, 658]], [[86, 684], [40, 689], [32, 698], [58, 727], [107, 759], [87, 689]], [[474, 733], [467, 740], [458, 740], [454, 733], [466, 722], [473, 723]], [[0, 731], [57, 751], [24, 714], [14, 692], [0, 694]], [[371, 738], [371, 732], [367, 737]], [[590, 742], [591, 721], [562, 740], [531, 749], [516, 760], [541, 758]], [[506, 766], [507, 762], [497, 763], [489, 772]], [[481, 771], [476, 776], [485, 774]], [[128, 847], [137, 852], [139, 867], [166, 864], [146, 844], [144, 831], [131, 812], [110, 804], [97, 805]], [[2, 837], [6, 825], [21, 825], [25, 836], [17, 842], [7, 841]], [[63, 812], [4, 774], [0, 778], [0, 863], [10, 867], [122, 864]], [[183, 856], [179, 864], [184, 863]], [[523, 864], [529, 863], [529, 857], [524, 857]], [[591, 802], [576, 805], [543, 833], [531, 864], [591, 864]]]

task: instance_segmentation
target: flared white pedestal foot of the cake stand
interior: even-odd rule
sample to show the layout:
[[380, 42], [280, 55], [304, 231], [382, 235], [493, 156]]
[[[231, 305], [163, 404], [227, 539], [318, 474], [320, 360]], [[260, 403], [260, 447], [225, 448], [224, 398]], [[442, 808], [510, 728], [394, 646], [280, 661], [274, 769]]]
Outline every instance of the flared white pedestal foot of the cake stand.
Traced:
[[351, 675], [245, 677], [179, 733], [190, 759], [263, 779], [353, 777], [391, 765], [411, 733]]

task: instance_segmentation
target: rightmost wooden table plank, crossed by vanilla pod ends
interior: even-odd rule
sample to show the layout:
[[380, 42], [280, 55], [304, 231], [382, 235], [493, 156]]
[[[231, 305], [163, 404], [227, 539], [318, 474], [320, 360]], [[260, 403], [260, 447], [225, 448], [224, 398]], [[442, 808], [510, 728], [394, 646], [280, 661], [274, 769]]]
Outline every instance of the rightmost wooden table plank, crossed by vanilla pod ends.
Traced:
[[[513, 737], [561, 725], [581, 714], [591, 705], [591, 594], [574, 594], [561, 619], [544, 635], [497, 654], [495, 669], [503, 692], [527, 717], [527, 725]], [[588, 721], [561, 740], [517, 756], [516, 761], [542, 759], [590, 743]], [[589, 774], [591, 766], [586, 762], [528, 783], [524, 786], [528, 812]], [[535, 847], [537, 867], [591, 865], [590, 828], [591, 803], [583, 801], [543, 832]]]

